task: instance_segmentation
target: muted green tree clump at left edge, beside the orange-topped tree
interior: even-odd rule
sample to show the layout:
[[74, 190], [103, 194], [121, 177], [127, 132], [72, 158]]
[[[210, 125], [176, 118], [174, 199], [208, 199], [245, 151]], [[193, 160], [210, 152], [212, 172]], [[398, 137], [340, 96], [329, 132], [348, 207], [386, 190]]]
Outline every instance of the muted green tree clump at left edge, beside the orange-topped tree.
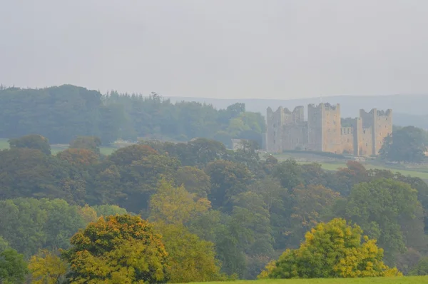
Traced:
[[26, 258], [39, 248], [68, 248], [71, 236], [86, 225], [78, 206], [59, 199], [0, 201], [0, 215], [0, 235]]

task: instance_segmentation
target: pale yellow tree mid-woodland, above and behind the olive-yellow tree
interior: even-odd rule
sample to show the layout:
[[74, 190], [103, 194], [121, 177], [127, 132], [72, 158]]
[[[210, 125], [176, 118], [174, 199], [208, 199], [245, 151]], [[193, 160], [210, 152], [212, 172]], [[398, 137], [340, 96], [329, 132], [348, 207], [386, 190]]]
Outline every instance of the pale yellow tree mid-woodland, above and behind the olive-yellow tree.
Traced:
[[167, 224], [183, 224], [210, 208], [210, 201], [195, 198], [184, 186], [174, 187], [162, 179], [158, 191], [151, 197], [151, 220]]

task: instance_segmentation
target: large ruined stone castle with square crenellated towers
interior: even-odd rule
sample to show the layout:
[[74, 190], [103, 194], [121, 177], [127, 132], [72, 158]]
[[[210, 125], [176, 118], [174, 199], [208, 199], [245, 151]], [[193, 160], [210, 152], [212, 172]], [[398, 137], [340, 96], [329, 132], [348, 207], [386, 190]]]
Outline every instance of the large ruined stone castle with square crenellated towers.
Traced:
[[341, 118], [340, 105], [320, 103], [293, 111], [280, 106], [267, 108], [265, 148], [269, 152], [284, 150], [347, 153], [354, 156], [375, 156], [385, 137], [392, 133], [392, 110], [370, 112], [360, 110], [358, 118]]

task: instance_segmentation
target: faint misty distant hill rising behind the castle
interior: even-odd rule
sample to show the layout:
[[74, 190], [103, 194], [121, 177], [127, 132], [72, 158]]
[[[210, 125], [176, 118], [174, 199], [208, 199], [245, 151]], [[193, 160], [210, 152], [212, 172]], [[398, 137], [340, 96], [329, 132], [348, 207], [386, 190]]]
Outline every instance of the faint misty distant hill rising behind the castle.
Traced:
[[[221, 98], [186, 98], [169, 97], [172, 102], [198, 101], [212, 104], [216, 108], [226, 108], [233, 103], [245, 103], [247, 111], [260, 112], [266, 115], [266, 108], [274, 111], [277, 107], [295, 108], [309, 103], [320, 103], [320, 98], [300, 98], [292, 100], [276, 100], [263, 98], [221, 99]], [[428, 95], [390, 95], [390, 96], [327, 96], [322, 98], [325, 103], [340, 103], [342, 117], [357, 117], [360, 108], [370, 111], [372, 108], [386, 110], [392, 108], [394, 124], [398, 126], [417, 126], [428, 129]]]

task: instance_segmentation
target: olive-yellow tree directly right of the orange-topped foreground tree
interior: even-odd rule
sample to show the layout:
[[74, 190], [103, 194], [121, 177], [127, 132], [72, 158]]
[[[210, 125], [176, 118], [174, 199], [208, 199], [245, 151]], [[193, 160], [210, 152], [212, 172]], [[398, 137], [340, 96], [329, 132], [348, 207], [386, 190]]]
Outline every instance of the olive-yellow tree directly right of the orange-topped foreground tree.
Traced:
[[205, 282], [223, 279], [215, 259], [214, 244], [201, 240], [184, 225], [156, 224], [168, 251], [171, 283]]

